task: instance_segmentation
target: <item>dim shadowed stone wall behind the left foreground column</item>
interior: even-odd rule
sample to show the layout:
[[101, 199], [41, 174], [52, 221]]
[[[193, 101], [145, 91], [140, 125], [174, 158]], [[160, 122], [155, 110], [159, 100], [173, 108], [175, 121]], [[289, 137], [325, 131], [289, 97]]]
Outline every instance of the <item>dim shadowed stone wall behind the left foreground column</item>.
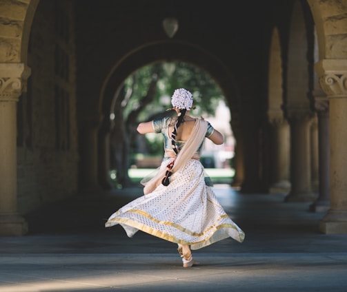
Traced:
[[75, 44], [68, 1], [40, 1], [32, 23], [28, 92], [17, 120], [18, 211], [77, 192]]

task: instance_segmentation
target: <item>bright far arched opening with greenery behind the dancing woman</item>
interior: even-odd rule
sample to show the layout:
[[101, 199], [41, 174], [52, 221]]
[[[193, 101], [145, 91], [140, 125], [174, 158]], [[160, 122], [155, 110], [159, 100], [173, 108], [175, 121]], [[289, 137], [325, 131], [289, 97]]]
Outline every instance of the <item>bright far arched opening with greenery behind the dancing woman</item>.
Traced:
[[[99, 152], [99, 159], [104, 160], [104, 163], [100, 164], [103, 167], [100, 169], [100, 173], [103, 174], [103, 177], [100, 177], [101, 182], [104, 182], [103, 185], [109, 185], [107, 182], [109, 177], [106, 176], [110, 169], [113, 169], [112, 176], [118, 174], [116, 180], [119, 187], [126, 187], [131, 183], [128, 178], [129, 168], [132, 168], [133, 174], [134, 168], [159, 167], [163, 156], [162, 140], [159, 138], [159, 145], [157, 143], [148, 145], [148, 140], [143, 136], [140, 138], [137, 134], [136, 126], [140, 121], [172, 114], [166, 112], [166, 109], [171, 107], [170, 96], [175, 87], [188, 88], [195, 96], [195, 109], [192, 110], [192, 115], [204, 116], [224, 134], [224, 145], [212, 145], [206, 139], [201, 160], [203, 165], [210, 169], [208, 172], [213, 172], [215, 180], [231, 183], [234, 172], [231, 169], [231, 159], [234, 155], [235, 137], [230, 128], [230, 109], [226, 105], [224, 95], [207, 72], [190, 63], [177, 61], [157, 62], [132, 72], [113, 95], [114, 98], [108, 109], [112, 118], [111, 121], [105, 121], [111, 124], [110, 128], [106, 128], [110, 131], [105, 130], [102, 132], [103, 135], [99, 136], [102, 149]], [[218, 118], [215, 118], [216, 112], [219, 114]], [[130, 152], [133, 152], [132, 155]], [[134, 152], [141, 154], [136, 156]], [[225, 171], [217, 171], [222, 168]]]

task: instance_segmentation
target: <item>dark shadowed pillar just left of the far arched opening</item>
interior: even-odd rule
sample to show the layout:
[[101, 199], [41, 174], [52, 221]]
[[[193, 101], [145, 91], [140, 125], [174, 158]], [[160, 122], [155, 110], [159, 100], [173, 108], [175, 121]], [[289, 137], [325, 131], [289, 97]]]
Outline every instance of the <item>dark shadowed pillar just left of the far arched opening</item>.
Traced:
[[79, 190], [88, 193], [101, 190], [98, 182], [98, 132], [100, 116], [87, 116], [79, 128]]

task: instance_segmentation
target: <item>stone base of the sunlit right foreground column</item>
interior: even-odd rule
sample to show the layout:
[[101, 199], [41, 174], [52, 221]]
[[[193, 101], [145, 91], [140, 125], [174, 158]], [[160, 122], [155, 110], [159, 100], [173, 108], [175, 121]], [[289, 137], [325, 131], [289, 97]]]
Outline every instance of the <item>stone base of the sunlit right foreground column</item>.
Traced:
[[347, 210], [329, 210], [319, 222], [319, 231], [326, 234], [346, 234]]

